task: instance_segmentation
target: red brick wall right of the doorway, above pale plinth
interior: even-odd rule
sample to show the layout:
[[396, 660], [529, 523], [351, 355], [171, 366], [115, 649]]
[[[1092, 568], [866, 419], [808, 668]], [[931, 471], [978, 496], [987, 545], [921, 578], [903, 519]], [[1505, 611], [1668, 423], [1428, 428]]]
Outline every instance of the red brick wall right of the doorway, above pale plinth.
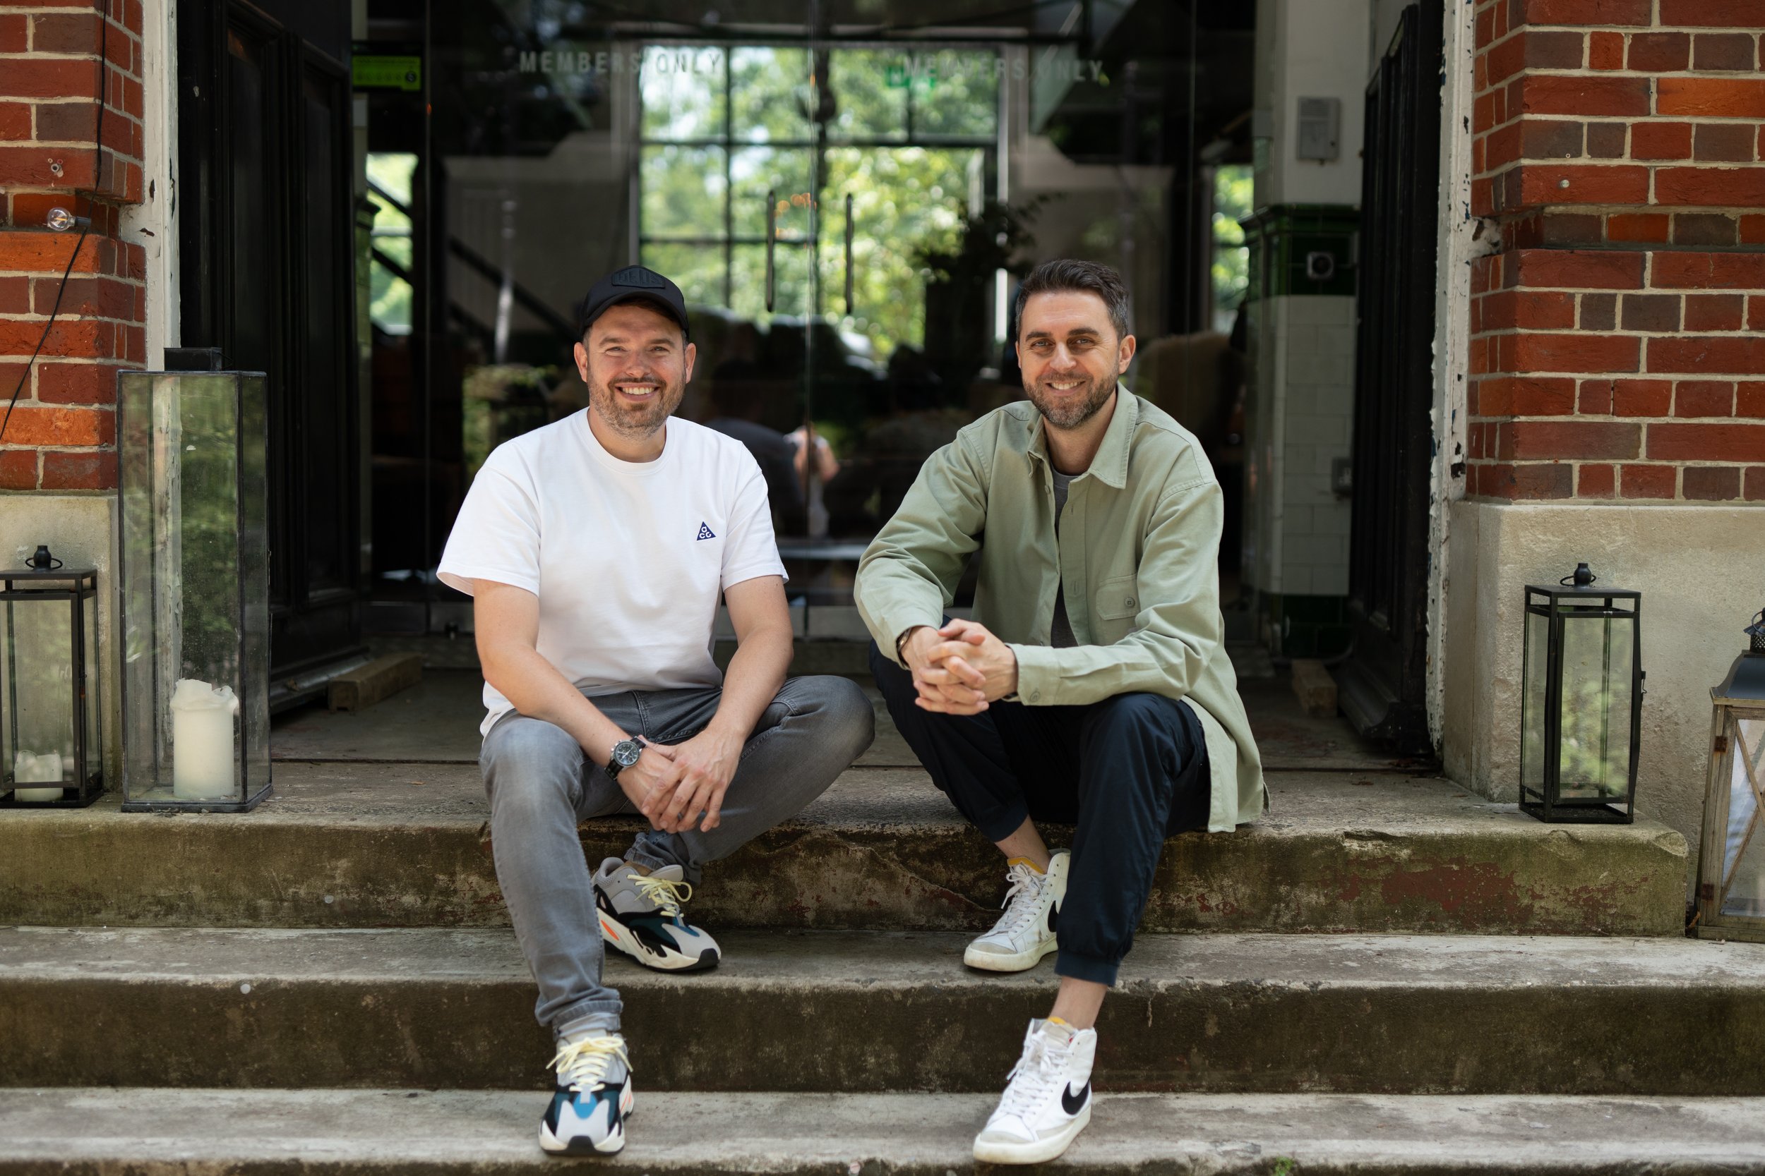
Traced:
[[1765, 0], [1479, 0], [1467, 492], [1765, 501]]

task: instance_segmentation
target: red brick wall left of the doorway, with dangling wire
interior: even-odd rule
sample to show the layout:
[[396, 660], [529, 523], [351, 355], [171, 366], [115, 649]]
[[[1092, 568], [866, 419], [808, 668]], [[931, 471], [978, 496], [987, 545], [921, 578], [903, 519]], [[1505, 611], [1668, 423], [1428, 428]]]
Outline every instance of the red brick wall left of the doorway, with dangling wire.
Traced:
[[[118, 231], [141, 201], [141, 0], [0, 0], [0, 413], [42, 340], [0, 435], [0, 490], [116, 485], [116, 372], [146, 361], [145, 252]], [[55, 206], [92, 231], [44, 337], [79, 238], [44, 227]]]

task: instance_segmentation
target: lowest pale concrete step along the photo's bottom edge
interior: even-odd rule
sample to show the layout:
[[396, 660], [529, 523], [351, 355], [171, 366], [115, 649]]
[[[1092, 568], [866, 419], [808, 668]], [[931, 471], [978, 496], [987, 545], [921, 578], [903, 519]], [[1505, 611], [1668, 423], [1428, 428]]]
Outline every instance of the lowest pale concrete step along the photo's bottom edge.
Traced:
[[[665, 1095], [639, 1072], [630, 1144], [568, 1164], [533, 1135], [531, 1091], [0, 1091], [4, 1176], [409, 1172], [944, 1176], [992, 1095]], [[1108, 1095], [1055, 1171], [1198, 1176], [1765, 1171], [1754, 1098]], [[999, 1171], [999, 1169], [990, 1169]]]

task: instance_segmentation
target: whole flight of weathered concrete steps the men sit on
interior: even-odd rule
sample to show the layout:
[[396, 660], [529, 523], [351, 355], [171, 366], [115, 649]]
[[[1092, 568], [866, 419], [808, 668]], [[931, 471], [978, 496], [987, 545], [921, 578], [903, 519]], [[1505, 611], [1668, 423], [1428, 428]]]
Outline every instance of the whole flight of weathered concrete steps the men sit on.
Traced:
[[[279, 762], [242, 816], [0, 815], [0, 1176], [561, 1162], [477, 769], [353, 755]], [[1269, 783], [1258, 825], [1167, 846], [1057, 1167], [1765, 1171], [1765, 945], [1684, 938], [1679, 834], [1541, 825], [1327, 748], [1273, 755]], [[632, 830], [590, 822], [584, 852]], [[582, 1164], [974, 1171], [1055, 984], [962, 966], [1001, 892], [884, 725], [706, 871], [718, 970], [609, 959], [639, 1113]]]

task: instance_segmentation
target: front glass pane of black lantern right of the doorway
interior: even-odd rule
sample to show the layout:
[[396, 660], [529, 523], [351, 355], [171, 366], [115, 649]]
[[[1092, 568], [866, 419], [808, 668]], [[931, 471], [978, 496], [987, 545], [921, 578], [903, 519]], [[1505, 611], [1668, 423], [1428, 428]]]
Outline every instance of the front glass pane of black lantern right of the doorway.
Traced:
[[1562, 624], [1562, 800], [1610, 802], [1631, 785], [1631, 652], [1627, 617]]

